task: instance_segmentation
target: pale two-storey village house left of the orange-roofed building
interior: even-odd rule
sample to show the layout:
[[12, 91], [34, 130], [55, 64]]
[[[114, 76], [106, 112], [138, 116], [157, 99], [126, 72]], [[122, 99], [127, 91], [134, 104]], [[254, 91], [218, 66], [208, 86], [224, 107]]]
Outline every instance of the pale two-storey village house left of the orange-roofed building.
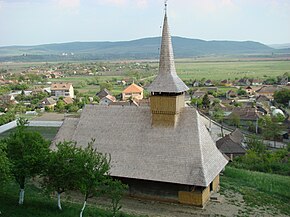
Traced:
[[74, 98], [74, 88], [72, 83], [53, 83], [50, 86], [51, 96], [55, 98]]

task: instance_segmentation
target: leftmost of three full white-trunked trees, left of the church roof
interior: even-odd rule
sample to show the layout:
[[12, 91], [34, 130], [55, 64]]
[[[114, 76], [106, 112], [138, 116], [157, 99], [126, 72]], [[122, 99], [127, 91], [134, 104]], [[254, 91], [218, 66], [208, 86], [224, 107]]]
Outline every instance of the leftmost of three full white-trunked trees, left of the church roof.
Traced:
[[24, 187], [28, 178], [41, 174], [49, 153], [49, 142], [38, 132], [28, 131], [26, 119], [17, 120], [16, 132], [11, 133], [4, 143], [7, 156], [12, 163], [12, 174], [19, 184], [19, 204], [24, 202]]

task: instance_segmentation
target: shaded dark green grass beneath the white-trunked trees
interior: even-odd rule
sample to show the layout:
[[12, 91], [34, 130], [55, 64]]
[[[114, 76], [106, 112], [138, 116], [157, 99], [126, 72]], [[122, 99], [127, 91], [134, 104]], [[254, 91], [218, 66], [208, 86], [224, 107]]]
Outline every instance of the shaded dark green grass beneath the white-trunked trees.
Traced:
[[[5, 185], [0, 190], [1, 217], [73, 217], [79, 216], [82, 204], [62, 202], [62, 211], [57, 209], [56, 198], [50, 198], [43, 194], [41, 189], [28, 184], [25, 191], [24, 205], [18, 205], [18, 187], [14, 183]], [[84, 211], [84, 217], [109, 217], [110, 211], [90, 205]], [[134, 217], [122, 213], [123, 217]]]

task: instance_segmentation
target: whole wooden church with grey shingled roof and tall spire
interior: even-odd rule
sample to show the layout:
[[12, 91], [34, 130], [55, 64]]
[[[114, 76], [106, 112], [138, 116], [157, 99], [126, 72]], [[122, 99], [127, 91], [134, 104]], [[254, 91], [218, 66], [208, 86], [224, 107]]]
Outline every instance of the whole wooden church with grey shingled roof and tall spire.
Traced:
[[150, 107], [85, 106], [80, 118], [64, 120], [54, 142], [87, 146], [95, 138], [131, 196], [203, 207], [227, 160], [198, 112], [185, 107], [188, 87], [176, 74], [166, 13], [159, 74], [148, 90]]

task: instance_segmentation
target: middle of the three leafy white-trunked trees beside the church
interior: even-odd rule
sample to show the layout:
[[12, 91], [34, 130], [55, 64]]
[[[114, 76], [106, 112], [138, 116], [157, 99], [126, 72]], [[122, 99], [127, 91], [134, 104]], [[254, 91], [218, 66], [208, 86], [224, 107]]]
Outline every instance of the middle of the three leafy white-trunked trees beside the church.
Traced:
[[62, 210], [60, 196], [67, 190], [77, 188], [79, 178], [78, 168], [79, 149], [73, 142], [62, 142], [56, 145], [48, 158], [43, 174], [43, 185], [48, 192], [57, 192], [57, 207]]

